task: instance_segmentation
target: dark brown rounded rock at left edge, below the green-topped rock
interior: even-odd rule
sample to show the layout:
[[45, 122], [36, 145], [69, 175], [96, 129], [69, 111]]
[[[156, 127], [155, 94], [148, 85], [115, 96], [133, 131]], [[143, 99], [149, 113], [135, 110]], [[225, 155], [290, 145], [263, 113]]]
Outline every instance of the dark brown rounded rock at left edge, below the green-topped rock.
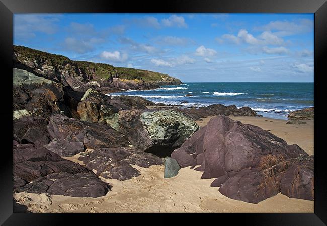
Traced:
[[45, 145], [51, 140], [47, 122], [34, 116], [21, 116], [13, 121], [13, 139], [18, 143], [35, 145]]

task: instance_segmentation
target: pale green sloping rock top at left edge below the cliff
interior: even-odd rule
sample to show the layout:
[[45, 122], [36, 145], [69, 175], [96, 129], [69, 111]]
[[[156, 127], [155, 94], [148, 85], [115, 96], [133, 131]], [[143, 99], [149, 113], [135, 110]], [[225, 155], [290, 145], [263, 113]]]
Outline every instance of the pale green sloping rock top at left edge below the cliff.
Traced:
[[45, 79], [43, 77], [36, 76], [26, 70], [13, 68], [13, 84], [33, 84], [33, 83], [55, 83], [52, 80]]

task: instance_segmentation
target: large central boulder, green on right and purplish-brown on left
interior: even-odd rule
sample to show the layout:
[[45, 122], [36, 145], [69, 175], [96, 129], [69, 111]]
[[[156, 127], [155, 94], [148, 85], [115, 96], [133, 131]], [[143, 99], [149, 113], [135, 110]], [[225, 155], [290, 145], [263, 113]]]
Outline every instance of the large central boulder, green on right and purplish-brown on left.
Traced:
[[123, 110], [117, 124], [131, 144], [162, 157], [170, 155], [199, 128], [192, 118], [174, 110]]

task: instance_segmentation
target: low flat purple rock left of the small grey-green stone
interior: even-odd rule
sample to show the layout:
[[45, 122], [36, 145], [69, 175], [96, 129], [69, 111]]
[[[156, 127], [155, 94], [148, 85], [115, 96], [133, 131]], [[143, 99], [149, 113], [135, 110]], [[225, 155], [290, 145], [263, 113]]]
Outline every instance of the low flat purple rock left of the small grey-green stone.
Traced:
[[90, 169], [97, 171], [97, 175], [104, 178], [120, 181], [140, 175], [140, 172], [131, 165], [146, 167], [162, 165], [162, 159], [144, 153], [136, 147], [102, 148], [81, 156], [79, 160]]

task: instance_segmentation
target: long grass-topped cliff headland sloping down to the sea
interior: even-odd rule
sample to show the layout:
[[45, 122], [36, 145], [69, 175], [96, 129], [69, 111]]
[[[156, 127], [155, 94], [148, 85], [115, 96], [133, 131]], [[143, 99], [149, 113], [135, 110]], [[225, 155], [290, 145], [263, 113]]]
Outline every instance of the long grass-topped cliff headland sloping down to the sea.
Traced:
[[179, 79], [158, 72], [114, 67], [105, 63], [74, 61], [24, 46], [13, 46], [13, 67], [27, 70], [39, 77], [60, 82], [74, 91], [89, 88], [101, 92], [122, 89], [146, 90], [159, 85], [182, 84]]

